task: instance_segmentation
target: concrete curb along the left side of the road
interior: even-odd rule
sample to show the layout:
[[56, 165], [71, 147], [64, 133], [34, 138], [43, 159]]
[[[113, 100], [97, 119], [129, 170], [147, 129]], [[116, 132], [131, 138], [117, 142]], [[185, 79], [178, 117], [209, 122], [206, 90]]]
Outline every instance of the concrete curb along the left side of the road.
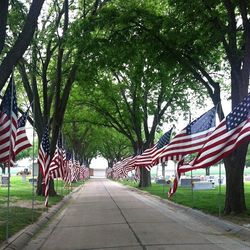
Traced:
[[50, 219], [69, 202], [74, 193], [78, 192], [82, 185], [73, 190], [70, 194], [65, 196], [58, 204], [49, 208], [48, 212], [44, 212], [38, 221], [27, 226], [23, 230], [11, 236], [8, 241], [4, 241], [0, 246], [0, 250], [18, 250], [22, 249], [31, 238], [38, 233], [38, 231], [50, 221]]

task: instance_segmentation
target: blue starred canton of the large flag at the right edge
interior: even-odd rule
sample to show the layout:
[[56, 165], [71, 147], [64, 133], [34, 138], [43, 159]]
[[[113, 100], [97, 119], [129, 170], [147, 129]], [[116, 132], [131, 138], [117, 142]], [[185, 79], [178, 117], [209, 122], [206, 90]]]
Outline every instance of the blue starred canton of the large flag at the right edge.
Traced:
[[250, 115], [250, 97], [245, 98], [240, 105], [235, 107], [233, 111], [226, 117], [227, 130], [236, 128], [245, 121]]

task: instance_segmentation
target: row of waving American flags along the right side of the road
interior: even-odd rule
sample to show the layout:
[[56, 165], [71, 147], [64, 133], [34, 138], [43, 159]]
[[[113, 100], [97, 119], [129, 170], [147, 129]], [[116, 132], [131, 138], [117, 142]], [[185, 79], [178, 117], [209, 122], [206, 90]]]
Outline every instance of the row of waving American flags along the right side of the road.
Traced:
[[[250, 139], [250, 96], [245, 97], [218, 126], [216, 126], [216, 108], [213, 107], [182, 129], [171, 140], [170, 129], [151, 148], [141, 155], [130, 156], [107, 169], [107, 177], [123, 178], [135, 170], [139, 178], [140, 168], [148, 171], [168, 160], [177, 162], [176, 177], [169, 190], [169, 196], [177, 189], [182, 173], [207, 168], [227, 157], [243, 141]], [[187, 158], [193, 157], [190, 161]]]

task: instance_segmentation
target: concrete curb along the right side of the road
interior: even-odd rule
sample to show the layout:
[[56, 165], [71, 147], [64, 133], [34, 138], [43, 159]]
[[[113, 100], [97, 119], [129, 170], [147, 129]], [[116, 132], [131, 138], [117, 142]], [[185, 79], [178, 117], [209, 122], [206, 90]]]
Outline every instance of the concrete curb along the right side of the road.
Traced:
[[[120, 185], [122, 185], [121, 183], [119, 183]], [[157, 199], [158, 201], [167, 204], [168, 206], [174, 208], [174, 209], [178, 209], [181, 210], [182, 212], [185, 212], [186, 214], [192, 216], [195, 219], [199, 219], [201, 222], [207, 223], [210, 226], [215, 226], [217, 229], [219, 228], [220, 230], [222, 230], [225, 234], [228, 235], [232, 235], [235, 237], [240, 238], [243, 241], [247, 241], [250, 242], [250, 229], [241, 225], [237, 225], [233, 222], [224, 220], [222, 218], [210, 215], [210, 214], [206, 214], [203, 213], [200, 210], [196, 210], [190, 207], [186, 207], [184, 205], [169, 201], [169, 200], [165, 200], [162, 199], [156, 195], [152, 195], [146, 191], [131, 187], [131, 186], [126, 186], [126, 185], [122, 185], [128, 189], [132, 189], [133, 191], [139, 193], [139, 194], [143, 194], [143, 195], [147, 195], [150, 196], [152, 198]]]

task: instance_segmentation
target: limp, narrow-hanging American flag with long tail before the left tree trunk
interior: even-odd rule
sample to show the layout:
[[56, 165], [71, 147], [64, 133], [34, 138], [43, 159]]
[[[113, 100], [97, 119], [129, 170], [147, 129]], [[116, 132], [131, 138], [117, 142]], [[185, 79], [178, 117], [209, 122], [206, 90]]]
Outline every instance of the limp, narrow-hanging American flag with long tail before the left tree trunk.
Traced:
[[48, 206], [49, 200], [49, 164], [50, 164], [50, 143], [49, 143], [49, 128], [46, 127], [42, 142], [38, 151], [38, 165], [42, 170], [45, 183], [45, 206]]

